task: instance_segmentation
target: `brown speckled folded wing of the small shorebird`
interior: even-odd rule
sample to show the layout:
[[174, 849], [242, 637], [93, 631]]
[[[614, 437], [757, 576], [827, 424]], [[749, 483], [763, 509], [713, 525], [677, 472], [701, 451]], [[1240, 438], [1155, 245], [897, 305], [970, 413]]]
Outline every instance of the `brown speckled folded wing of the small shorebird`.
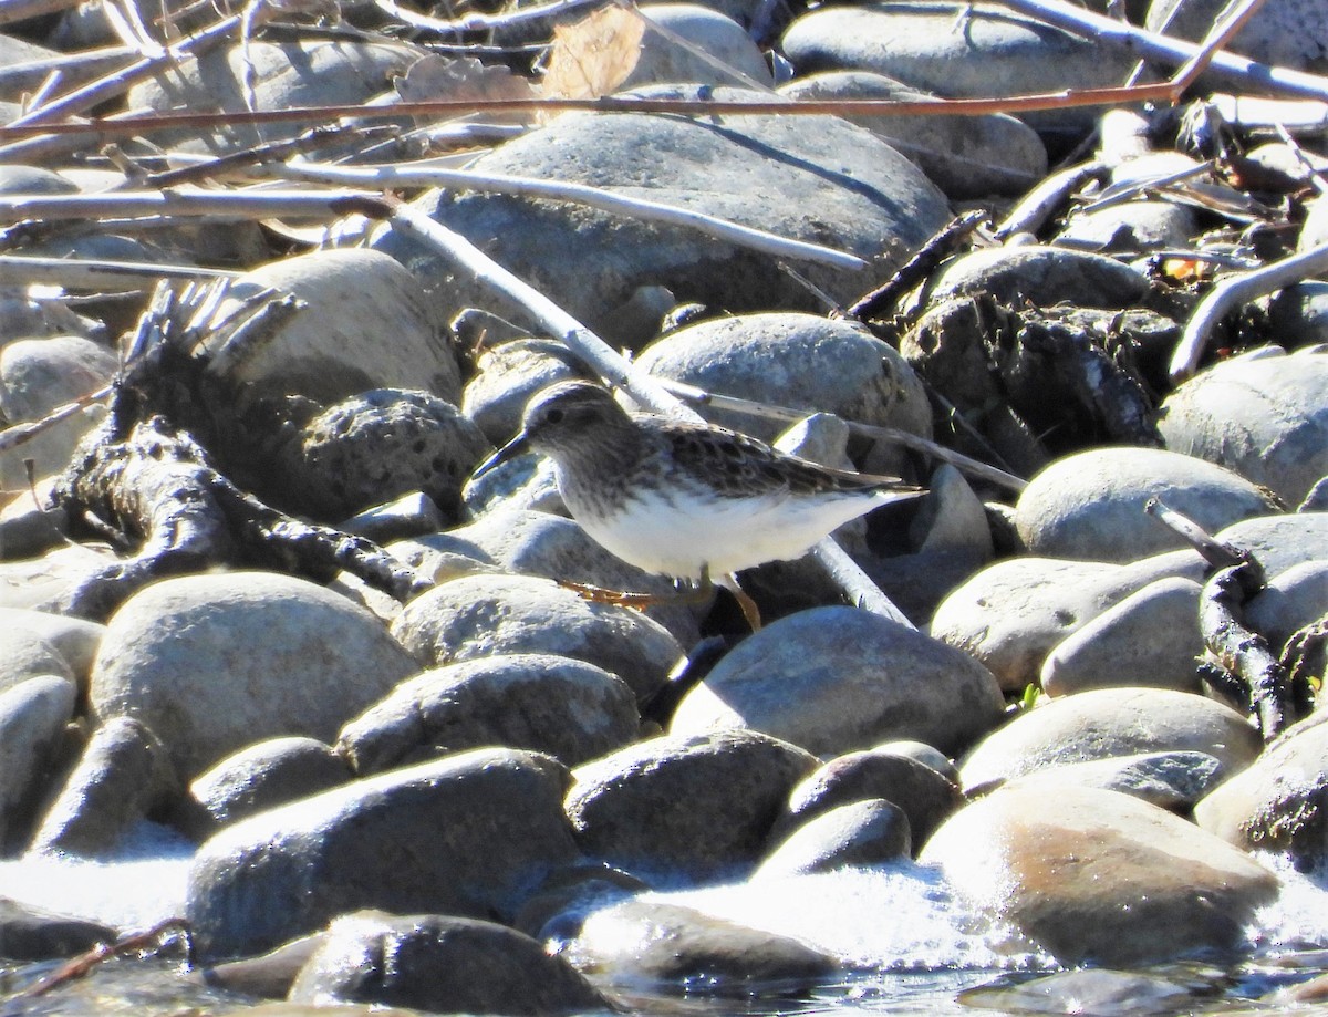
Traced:
[[892, 477], [834, 470], [784, 455], [745, 434], [668, 421], [660, 429], [673, 469], [693, 483], [708, 483], [728, 498], [754, 498], [784, 491], [811, 495], [907, 487]]

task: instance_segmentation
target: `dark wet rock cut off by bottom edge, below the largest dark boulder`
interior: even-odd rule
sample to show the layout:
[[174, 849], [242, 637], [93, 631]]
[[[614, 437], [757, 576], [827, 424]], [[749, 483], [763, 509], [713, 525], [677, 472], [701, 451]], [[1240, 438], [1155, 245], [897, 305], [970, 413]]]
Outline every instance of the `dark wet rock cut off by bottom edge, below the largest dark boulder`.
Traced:
[[543, 944], [493, 921], [356, 912], [332, 923], [291, 1002], [551, 1017], [615, 1006]]

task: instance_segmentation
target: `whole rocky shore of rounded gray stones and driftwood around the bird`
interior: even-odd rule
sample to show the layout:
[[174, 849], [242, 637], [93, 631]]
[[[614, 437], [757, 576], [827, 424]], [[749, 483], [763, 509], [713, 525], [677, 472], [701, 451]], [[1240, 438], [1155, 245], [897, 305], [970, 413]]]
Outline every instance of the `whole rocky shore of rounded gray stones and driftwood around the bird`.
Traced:
[[[923, 109], [1216, 15], [1028, 7], [0, 3], [5, 858], [169, 827], [190, 977], [292, 1006], [773, 1000], [858, 961], [657, 891], [854, 868], [1190, 1006], [1109, 969], [1328, 847], [1328, 23]], [[571, 377], [928, 493], [752, 632], [470, 482]], [[21, 899], [20, 993], [134, 932]]]

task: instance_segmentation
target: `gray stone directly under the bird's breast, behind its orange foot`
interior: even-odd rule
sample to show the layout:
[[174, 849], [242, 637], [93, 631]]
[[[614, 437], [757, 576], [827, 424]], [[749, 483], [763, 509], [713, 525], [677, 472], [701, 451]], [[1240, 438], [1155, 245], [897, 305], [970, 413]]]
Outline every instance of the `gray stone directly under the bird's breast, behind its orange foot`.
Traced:
[[[558, 498], [562, 505], [562, 497]], [[566, 508], [564, 508], [566, 511]], [[486, 560], [521, 575], [559, 582], [583, 583], [600, 589], [652, 593], [663, 599], [641, 613], [659, 621], [684, 647], [700, 637], [697, 611], [677, 601], [677, 589], [668, 576], [629, 566], [598, 544], [579, 523], [563, 515], [529, 508], [495, 508], [470, 526], [458, 526], [449, 538], [466, 542]], [[425, 538], [432, 542], [432, 538]]]

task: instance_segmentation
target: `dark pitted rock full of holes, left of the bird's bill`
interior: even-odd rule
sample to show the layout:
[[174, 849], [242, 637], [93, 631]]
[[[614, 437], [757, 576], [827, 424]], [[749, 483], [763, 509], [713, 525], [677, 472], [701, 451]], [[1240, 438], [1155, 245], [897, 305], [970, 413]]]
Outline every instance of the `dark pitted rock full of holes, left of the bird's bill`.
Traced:
[[456, 520], [461, 489], [490, 451], [479, 429], [446, 400], [412, 389], [372, 389], [304, 425], [282, 490], [321, 519], [418, 490]]

